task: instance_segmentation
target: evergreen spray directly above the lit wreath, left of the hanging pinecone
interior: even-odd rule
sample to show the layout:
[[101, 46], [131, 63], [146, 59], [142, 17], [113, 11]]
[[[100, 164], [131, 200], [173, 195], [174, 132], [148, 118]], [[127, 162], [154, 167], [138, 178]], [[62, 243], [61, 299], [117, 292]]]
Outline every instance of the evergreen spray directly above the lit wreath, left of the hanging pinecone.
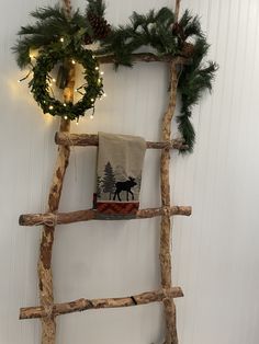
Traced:
[[89, 0], [86, 14], [77, 10], [71, 12], [70, 18], [67, 18], [66, 11], [58, 4], [31, 12], [31, 16], [36, 20], [35, 24], [21, 27], [18, 33], [20, 39], [12, 48], [18, 66], [22, 69], [31, 62], [30, 49], [47, 50], [60, 37], [66, 37], [66, 42], [72, 38], [78, 46], [85, 44], [86, 36], [91, 37], [91, 43], [98, 41], [88, 16], [94, 14], [103, 19], [104, 10], [103, 0]]

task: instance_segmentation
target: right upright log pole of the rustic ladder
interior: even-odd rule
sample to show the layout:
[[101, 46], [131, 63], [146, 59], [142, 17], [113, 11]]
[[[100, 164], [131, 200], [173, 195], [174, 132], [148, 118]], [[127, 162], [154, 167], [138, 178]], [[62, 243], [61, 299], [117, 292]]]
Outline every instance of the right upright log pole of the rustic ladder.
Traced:
[[[180, 0], [176, 0], [174, 14], [176, 22], [178, 22], [180, 10]], [[178, 72], [177, 62], [172, 61], [170, 66], [170, 95], [168, 108], [164, 115], [161, 124], [161, 140], [168, 141], [171, 137], [171, 122], [176, 110], [177, 103], [177, 87], [178, 87]], [[160, 161], [160, 187], [161, 187], [161, 204], [162, 207], [170, 208], [170, 149], [164, 148], [161, 151]], [[169, 289], [172, 286], [171, 278], [171, 218], [169, 215], [161, 216], [160, 225], [160, 270], [161, 270], [161, 287]], [[164, 299], [165, 314], [166, 314], [166, 341], [165, 344], [178, 344], [177, 335], [177, 314], [176, 305], [173, 299]]]

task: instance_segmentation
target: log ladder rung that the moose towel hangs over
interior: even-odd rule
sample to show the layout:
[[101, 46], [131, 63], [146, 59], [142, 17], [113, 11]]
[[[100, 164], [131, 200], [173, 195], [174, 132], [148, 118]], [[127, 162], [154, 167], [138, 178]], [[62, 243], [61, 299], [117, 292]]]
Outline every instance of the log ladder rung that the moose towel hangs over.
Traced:
[[[55, 142], [64, 146], [99, 146], [98, 135], [94, 134], [68, 134], [56, 133]], [[169, 140], [165, 142], [146, 141], [147, 149], [188, 149], [182, 140]]]

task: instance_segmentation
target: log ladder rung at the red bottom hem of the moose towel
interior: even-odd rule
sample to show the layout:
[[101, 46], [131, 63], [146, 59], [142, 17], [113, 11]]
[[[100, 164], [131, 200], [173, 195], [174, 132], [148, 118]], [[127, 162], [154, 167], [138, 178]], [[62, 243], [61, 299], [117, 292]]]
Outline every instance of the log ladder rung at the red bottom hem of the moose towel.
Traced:
[[191, 207], [184, 207], [184, 206], [173, 206], [173, 207], [161, 207], [161, 208], [147, 208], [147, 209], [140, 209], [134, 215], [134, 218], [123, 215], [114, 216], [112, 215], [111, 218], [105, 217], [99, 217], [103, 216], [103, 214], [100, 214], [95, 209], [87, 209], [87, 210], [78, 210], [78, 211], [71, 211], [71, 213], [46, 213], [46, 214], [24, 214], [21, 215], [19, 218], [19, 225], [21, 226], [49, 226], [54, 227], [56, 225], [67, 225], [72, 222], [80, 222], [80, 221], [90, 221], [90, 220], [126, 220], [126, 219], [146, 219], [146, 218], [153, 218], [156, 216], [161, 215], [183, 215], [183, 216], [190, 216], [192, 213]]

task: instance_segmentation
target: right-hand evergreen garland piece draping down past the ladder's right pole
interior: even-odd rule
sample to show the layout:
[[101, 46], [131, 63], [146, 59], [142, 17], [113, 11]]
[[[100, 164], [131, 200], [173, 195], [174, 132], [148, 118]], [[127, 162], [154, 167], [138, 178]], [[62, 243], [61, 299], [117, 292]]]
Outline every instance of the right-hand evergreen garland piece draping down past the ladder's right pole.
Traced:
[[205, 90], [212, 90], [212, 80], [217, 65], [209, 61], [203, 65], [203, 58], [209, 50], [209, 44], [201, 30], [198, 16], [192, 16], [187, 10], [179, 22], [174, 22], [173, 12], [162, 8], [147, 15], [136, 12], [131, 16], [131, 23], [113, 27], [111, 34], [102, 42], [100, 55], [114, 54], [115, 68], [133, 66], [132, 56], [143, 46], [162, 57], [187, 57], [190, 64], [181, 66], [178, 92], [181, 96], [181, 114], [177, 117], [178, 129], [189, 147], [181, 152], [191, 152], [195, 142], [195, 131], [190, 121], [192, 107], [198, 103]]

